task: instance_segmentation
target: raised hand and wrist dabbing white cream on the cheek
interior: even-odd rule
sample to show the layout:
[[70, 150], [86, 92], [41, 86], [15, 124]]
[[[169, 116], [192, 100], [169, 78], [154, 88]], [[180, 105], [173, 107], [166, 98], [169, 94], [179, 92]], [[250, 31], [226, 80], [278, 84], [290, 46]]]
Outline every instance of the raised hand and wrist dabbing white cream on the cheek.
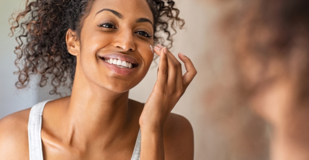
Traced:
[[197, 74], [191, 60], [179, 53], [178, 57], [187, 72], [182, 75], [181, 63], [167, 48], [157, 45], [155, 54], [160, 56], [158, 79], [142, 111], [139, 123], [142, 130], [162, 131], [164, 122], [190, 82]]

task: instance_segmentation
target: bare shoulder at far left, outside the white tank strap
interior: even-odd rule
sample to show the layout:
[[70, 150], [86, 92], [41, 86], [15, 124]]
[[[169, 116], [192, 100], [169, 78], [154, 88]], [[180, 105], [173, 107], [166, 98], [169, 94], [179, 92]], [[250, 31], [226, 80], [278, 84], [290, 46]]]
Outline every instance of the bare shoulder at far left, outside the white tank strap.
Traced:
[[28, 119], [30, 109], [0, 120], [0, 157], [2, 160], [29, 159]]

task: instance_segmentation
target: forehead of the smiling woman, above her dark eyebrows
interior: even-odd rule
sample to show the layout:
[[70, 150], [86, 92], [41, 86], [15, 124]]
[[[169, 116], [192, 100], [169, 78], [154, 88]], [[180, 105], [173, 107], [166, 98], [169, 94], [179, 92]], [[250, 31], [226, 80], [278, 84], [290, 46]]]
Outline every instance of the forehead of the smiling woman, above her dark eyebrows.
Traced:
[[104, 10], [113, 10], [123, 18], [143, 17], [153, 22], [153, 14], [146, 0], [95, 0], [89, 15], [95, 16]]

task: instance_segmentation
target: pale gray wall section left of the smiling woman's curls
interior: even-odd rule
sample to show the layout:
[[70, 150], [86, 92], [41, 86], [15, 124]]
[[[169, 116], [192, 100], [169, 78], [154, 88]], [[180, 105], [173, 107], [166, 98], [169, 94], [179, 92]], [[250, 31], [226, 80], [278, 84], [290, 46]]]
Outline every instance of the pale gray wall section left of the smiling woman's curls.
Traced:
[[[14, 65], [17, 44], [14, 38], [9, 38], [10, 25], [8, 20], [19, 9], [20, 0], [0, 0], [0, 118], [18, 110], [31, 107], [37, 102], [36, 87], [17, 90], [17, 76], [13, 74], [17, 68]], [[36, 79], [34, 79], [34, 82]]]

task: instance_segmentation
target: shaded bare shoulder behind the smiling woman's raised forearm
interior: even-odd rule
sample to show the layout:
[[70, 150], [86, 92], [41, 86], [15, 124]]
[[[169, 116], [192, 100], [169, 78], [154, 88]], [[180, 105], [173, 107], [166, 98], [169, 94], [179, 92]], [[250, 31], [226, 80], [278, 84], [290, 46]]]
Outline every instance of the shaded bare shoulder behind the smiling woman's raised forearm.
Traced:
[[193, 160], [193, 129], [183, 116], [169, 114], [164, 124], [163, 141], [165, 159]]

